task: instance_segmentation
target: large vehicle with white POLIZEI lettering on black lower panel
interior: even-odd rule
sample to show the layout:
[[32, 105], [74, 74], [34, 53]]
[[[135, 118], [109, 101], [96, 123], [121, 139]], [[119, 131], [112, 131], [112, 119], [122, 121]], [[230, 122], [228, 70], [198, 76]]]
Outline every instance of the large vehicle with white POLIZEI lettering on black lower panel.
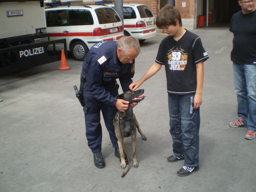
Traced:
[[66, 40], [49, 40], [41, 0], [0, 1], [0, 75], [61, 60]]

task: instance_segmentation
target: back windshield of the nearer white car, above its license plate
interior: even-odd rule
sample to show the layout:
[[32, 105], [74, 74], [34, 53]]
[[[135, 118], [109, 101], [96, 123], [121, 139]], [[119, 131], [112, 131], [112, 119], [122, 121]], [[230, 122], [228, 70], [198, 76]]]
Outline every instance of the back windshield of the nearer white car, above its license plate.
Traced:
[[99, 24], [109, 24], [121, 21], [118, 14], [112, 8], [98, 8], [95, 9]]

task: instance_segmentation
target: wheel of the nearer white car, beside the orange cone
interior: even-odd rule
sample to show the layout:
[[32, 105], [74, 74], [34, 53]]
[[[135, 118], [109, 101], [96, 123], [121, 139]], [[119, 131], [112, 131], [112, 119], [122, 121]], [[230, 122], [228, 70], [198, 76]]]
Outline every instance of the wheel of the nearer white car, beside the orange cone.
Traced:
[[75, 60], [83, 61], [88, 51], [88, 47], [81, 41], [76, 41], [72, 44], [71, 53]]

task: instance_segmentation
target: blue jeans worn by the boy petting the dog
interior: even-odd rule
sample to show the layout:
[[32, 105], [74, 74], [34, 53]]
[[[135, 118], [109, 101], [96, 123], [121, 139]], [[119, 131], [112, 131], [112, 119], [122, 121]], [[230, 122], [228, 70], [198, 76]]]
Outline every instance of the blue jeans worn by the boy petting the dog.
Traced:
[[184, 156], [188, 167], [199, 164], [200, 110], [193, 108], [194, 96], [168, 94], [173, 154]]

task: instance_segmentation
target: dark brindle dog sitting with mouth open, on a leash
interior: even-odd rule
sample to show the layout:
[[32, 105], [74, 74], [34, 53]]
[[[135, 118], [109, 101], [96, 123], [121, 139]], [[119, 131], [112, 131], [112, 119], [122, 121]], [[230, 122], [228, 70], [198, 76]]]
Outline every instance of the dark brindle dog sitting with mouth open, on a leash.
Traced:
[[[129, 103], [139, 102], [145, 98], [144, 89], [139, 89], [136, 91], [126, 91], [123, 94], [119, 94], [116, 96], [118, 99], [123, 99], [125, 101], [129, 101]], [[115, 129], [115, 135], [118, 139], [118, 147], [120, 151], [120, 159], [121, 159], [121, 168], [126, 167], [125, 163], [125, 155], [124, 149], [125, 146], [123, 142], [123, 138], [131, 137], [132, 140], [132, 148], [133, 148], [133, 167], [138, 168], [138, 160], [137, 160], [137, 152], [136, 152], [136, 133], [137, 130], [141, 135], [143, 140], [147, 140], [146, 136], [141, 132], [139, 128], [138, 121], [133, 113], [132, 107], [129, 104], [128, 109], [122, 113], [121, 111], [117, 111], [115, 113], [113, 119], [113, 125]], [[127, 152], [126, 152], [127, 153]], [[129, 162], [129, 159], [128, 159]], [[130, 163], [129, 163], [130, 164]], [[127, 170], [128, 172], [128, 170]], [[126, 174], [126, 173], [125, 173]]]

